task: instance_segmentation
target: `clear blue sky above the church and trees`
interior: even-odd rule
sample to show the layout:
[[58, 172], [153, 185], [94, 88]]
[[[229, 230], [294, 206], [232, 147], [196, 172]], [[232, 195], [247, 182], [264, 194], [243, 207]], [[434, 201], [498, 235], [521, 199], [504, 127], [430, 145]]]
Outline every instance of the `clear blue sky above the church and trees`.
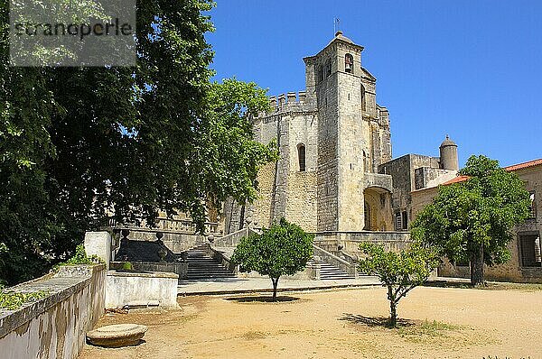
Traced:
[[438, 155], [445, 133], [460, 165], [485, 154], [509, 165], [542, 158], [542, 2], [219, 0], [207, 36], [217, 79], [269, 95], [304, 89], [304, 56], [341, 30], [365, 47], [394, 158]]

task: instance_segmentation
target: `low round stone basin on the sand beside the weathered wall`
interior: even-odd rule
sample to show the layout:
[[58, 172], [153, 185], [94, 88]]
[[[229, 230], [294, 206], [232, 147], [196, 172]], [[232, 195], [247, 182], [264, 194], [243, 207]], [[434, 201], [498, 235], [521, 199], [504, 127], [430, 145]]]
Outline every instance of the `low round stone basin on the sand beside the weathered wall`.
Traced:
[[137, 345], [147, 329], [137, 324], [116, 324], [89, 331], [87, 339], [91, 345], [110, 348]]

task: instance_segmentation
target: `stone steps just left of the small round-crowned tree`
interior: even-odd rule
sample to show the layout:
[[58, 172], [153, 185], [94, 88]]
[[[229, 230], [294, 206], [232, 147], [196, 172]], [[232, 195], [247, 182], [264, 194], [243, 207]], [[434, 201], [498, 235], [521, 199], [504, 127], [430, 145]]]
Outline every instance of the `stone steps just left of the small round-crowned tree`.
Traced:
[[214, 260], [204, 247], [194, 247], [187, 251], [188, 257], [188, 281], [209, 281], [216, 279], [237, 278], [229, 272], [222, 264]]

